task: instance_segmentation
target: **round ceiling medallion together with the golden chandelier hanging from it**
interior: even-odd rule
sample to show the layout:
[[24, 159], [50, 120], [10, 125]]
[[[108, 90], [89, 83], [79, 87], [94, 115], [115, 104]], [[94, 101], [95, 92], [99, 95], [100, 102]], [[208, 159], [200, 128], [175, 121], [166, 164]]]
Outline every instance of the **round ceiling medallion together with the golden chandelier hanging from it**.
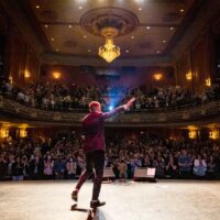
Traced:
[[134, 31], [139, 19], [132, 12], [120, 8], [99, 8], [85, 13], [80, 25], [87, 32], [106, 38], [106, 44], [99, 47], [99, 56], [111, 63], [120, 56], [120, 47], [113, 44], [113, 38]]

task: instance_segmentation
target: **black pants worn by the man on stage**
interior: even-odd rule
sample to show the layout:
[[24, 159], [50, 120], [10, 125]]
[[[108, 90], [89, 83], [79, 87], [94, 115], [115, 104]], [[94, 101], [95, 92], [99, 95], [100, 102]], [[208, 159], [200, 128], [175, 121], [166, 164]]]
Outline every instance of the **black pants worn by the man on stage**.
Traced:
[[86, 179], [94, 174], [95, 169], [95, 178], [94, 178], [94, 190], [91, 200], [98, 200], [99, 193], [101, 189], [101, 182], [103, 177], [103, 166], [105, 166], [105, 152], [103, 151], [95, 151], [86, 154], [86, 169], [79, 177], [78, 184], [76, 188], [79, 190]]

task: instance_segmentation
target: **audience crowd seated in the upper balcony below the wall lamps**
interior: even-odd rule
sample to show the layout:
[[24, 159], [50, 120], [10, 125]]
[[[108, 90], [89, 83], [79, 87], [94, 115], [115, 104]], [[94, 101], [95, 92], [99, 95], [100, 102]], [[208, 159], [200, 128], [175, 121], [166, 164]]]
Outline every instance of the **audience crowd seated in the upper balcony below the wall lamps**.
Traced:
[[58, 111], [85, 110], [91, 100], [99, 101], [102, 109], [108, 111], [109, 100], [118, 106], [134, 96], [136, 101], [132, 111], [150, 111], [205, 105], [220, 98], [220, 86], [212, 85], [202, 94], [196, 95], [179, 86], [125, 88], [123, 86], [79, 87], [76, 84], [67, 86], [58, 82], [30, 82], [21, 89], [15, 85], [2, 81], [0, 94], [33, 108]]

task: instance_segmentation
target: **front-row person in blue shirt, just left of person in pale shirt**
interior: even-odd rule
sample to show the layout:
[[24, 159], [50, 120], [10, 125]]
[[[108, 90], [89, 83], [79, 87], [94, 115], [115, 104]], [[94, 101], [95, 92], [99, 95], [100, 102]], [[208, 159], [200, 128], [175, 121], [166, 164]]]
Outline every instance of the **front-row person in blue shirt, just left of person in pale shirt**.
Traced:
[[190, 177], [191, 172], [191, 157], [187, 154], [187, 150], [182, 150], [182, 154], [178, 157], [179, 174], [184, 178]]

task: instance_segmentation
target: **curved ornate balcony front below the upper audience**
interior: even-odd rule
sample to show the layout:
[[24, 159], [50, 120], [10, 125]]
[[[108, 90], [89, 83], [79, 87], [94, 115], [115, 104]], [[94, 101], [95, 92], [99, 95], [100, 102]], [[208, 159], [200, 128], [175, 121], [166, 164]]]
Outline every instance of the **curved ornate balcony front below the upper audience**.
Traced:
[[[44, 122], [53, 124], [79, 125], [86, 112], [74, 110], [68, 112], [45, 111], [23, 106], [14, 100], [0, 96], [0, 120], [16, 122]], [[124, 112], [107, 120], [107, 125], [164, 127], [197, 123], [220, 122], [220, 100], [199, 107], [186, 107], [179, 110], [154, 112]]]

